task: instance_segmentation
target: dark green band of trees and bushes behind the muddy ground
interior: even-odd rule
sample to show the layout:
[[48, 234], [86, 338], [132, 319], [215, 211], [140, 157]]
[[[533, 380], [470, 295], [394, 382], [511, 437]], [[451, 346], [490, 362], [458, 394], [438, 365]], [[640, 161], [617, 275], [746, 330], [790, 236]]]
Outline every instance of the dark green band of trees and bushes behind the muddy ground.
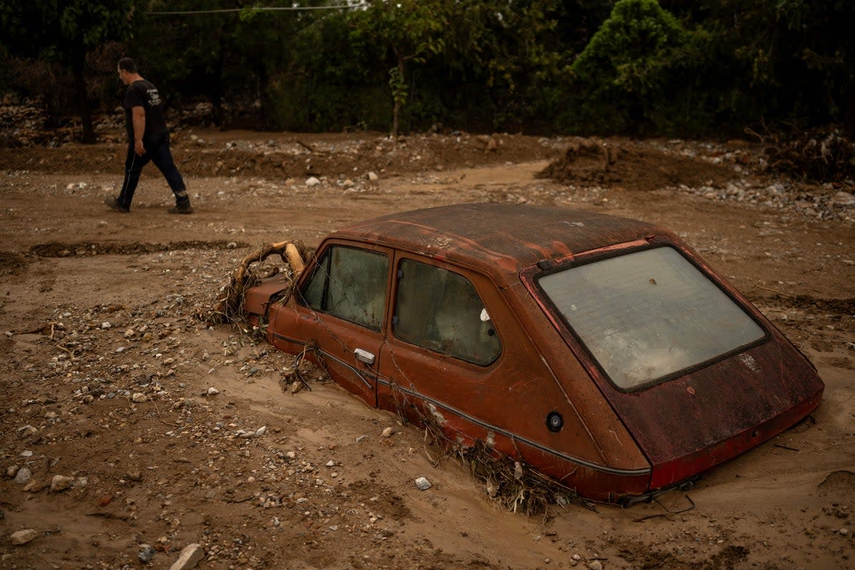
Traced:
[[[260, 0], [259, 0], [260, 1]], [[121, 105], [120, 56], [222, 127], [855, 133], [847, 0], [4, 0], [0, 91]], [[156, 14], [181, 10], [194, 14]], [[206, 10], [232, 10], [205, 12]], [[88, 126], [91, 135], [91, 123]], [[89, 138], [91, 140], [91, 138]]]

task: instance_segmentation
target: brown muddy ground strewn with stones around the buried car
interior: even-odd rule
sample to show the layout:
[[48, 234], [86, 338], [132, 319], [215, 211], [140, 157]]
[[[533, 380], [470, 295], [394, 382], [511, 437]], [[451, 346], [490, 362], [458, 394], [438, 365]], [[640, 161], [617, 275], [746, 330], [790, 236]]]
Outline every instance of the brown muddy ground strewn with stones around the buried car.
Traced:
[[[166, 213], [151, 166], [120, 214], [123, 154], [0, 152], [0, 568], [169, 568], [189, 544], [205, 570], [855, 568], [851, 181], [770, 177], [735, 141], [182, 131], [195, 214]], [[292, 356], [194, 316], [262, 243], [468, 202], [670, 227], [811, 359], [823, 403], [693, 490], [528, 517], [416, 427], [322, 377], [283, 390]]]

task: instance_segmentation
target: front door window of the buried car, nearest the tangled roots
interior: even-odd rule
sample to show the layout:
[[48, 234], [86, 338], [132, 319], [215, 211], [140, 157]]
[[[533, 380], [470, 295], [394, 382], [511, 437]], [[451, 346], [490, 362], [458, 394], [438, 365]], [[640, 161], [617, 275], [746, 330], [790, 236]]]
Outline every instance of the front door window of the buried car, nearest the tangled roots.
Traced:
[[388, 273], [386, 255], [333, 245], [324, 252], [301, 293], [312, 309], [379, 331]]

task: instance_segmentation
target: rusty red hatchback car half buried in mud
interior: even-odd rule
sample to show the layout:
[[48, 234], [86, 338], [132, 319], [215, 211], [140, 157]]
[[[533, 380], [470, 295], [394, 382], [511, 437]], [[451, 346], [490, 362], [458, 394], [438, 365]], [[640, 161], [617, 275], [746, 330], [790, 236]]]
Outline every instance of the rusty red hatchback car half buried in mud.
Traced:
[[823, 395], [675, 234], [605, 214], [484, 203], [363, 221], [244, 309], [370, 406], [599, 502], [691, 482]]

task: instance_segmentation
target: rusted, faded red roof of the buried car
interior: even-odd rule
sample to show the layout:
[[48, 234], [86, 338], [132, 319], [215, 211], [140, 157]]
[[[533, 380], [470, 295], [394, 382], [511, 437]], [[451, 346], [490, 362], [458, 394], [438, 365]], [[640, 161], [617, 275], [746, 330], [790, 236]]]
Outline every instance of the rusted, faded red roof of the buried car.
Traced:
[[388, 214], [345, 226], [332, 237], [422, 252], [495, 275], [663, 234], [671, 235], [652, 224], [608, 214], [468, 203]]

